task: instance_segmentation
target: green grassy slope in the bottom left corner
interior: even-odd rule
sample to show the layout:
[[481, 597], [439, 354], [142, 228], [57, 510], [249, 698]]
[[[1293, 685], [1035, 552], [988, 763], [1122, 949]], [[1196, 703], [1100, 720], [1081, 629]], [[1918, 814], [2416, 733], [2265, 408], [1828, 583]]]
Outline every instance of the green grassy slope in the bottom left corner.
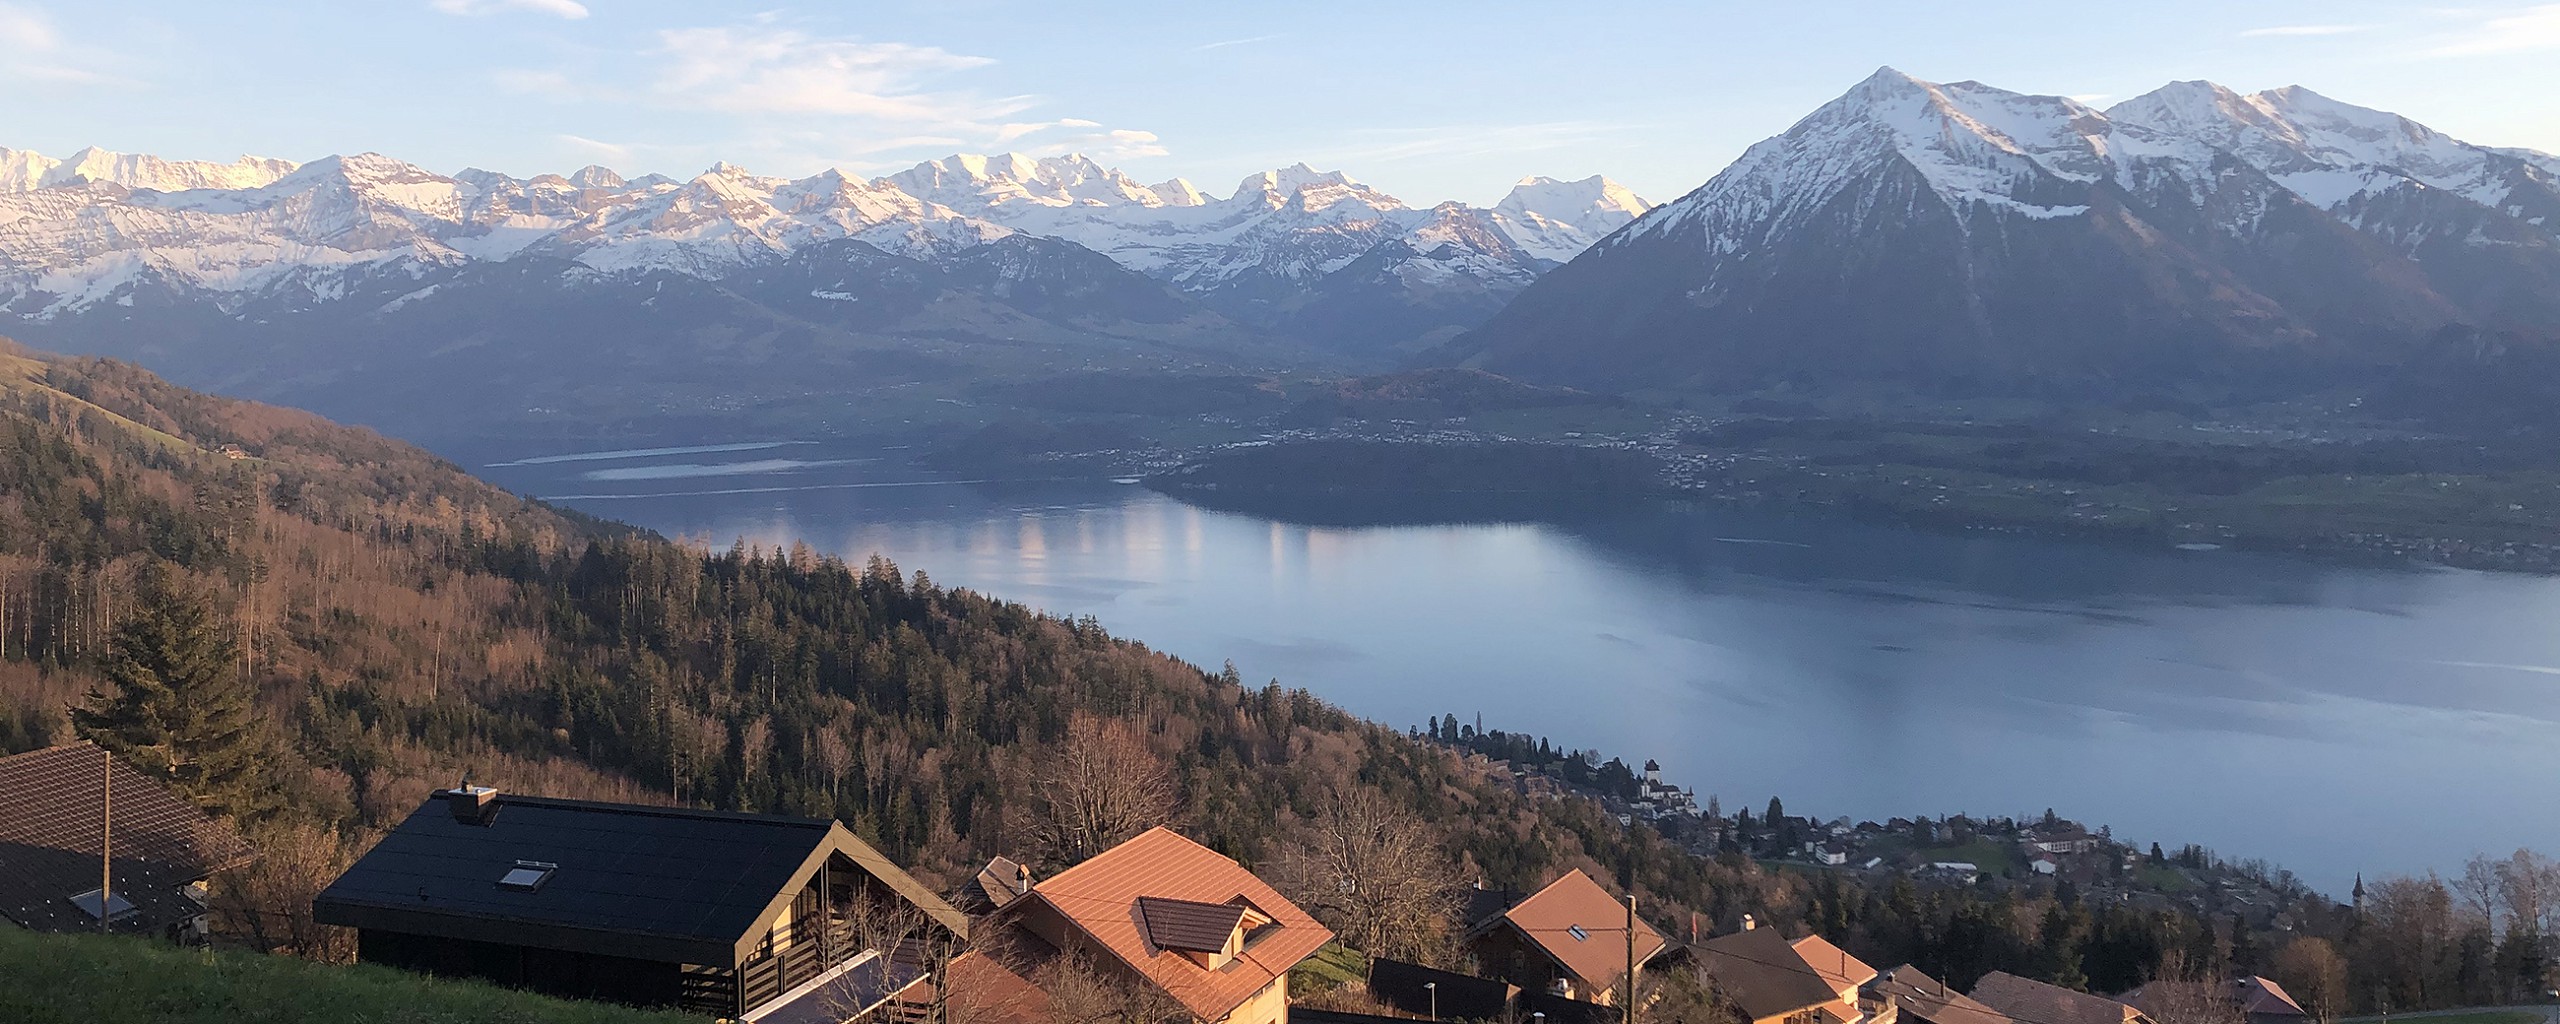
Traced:
[[79, 1024], [699, 1024], [392, 968], [0, 927], [0, 1021]]

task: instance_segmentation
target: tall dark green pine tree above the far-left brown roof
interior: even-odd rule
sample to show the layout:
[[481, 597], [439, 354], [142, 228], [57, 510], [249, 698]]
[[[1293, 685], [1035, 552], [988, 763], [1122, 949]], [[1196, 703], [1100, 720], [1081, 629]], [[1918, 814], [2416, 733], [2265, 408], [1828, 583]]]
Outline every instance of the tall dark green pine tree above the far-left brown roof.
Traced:
[[90, 691], [72, 724], [136, 771], [225, 817], [276, 809], [259, 742], [256, 691], [233, 671], [230, 635], [207, 602], [159, 573], [108, 643], [113, 694]]

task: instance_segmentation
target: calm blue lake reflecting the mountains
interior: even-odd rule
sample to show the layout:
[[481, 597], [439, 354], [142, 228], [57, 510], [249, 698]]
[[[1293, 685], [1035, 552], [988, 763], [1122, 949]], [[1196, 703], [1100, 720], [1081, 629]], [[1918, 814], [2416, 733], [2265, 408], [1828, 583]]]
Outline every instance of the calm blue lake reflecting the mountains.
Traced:
[[479, 461], [668, 535], [883, 553], [1398, 727], [1539, 732], [1725, 806], [2040, 814], [2353, 873], [2560, 852], [2560, 581], [1682, 502], [1221, 512], [904, 453]]

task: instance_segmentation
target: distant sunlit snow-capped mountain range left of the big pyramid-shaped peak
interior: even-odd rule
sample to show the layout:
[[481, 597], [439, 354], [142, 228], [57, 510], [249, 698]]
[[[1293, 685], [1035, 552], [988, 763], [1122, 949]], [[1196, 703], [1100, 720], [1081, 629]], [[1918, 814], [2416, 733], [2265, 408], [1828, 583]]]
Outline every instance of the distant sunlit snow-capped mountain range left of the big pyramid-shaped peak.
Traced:
[[[937, 259], [1027, 233], [1093, 248], [1267, 328], [1321, 302], [1329, 274], [1393, 256], [1411, 264], [1388, 269], [1416, 289], [1403, 297], [1411, 305], [1449, 307], [1449, 289], [1469, 297], [1457, 320], [1423, 317], [1428, 333], [1472, 325], [1644, 210], [1600, 177], [1523, 179], [1492, 210], [1418, 210], [1306, 164], [1211, 197], [1183, 179], [1139, 184], [1083, 156], [950, 156], [878, 179], [719, 164], [676, 182], [604, 166], [448, 177], [379, 154], [207, 164], [0, 148], [0, 310], [26, 323], [77, 317], [131, 305], [138, 287], [223, 310], [312, 305], [348, 292], [348, 274], [425, 282], [517, 259], [724, 279], [842, 238]], [[1377, 274], [1362, 266], [1359, 289], [1375, 292]]]

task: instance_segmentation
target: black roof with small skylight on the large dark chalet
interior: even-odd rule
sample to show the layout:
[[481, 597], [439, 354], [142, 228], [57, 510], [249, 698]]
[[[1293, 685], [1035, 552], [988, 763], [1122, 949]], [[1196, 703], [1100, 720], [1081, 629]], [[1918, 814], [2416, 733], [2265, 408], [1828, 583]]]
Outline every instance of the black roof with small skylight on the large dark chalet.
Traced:
[[[727, 963], [829, 847], [829, 819], [497, 796], [489, 824], [430, 799], [330, 883], [328, 924], [648, 960]], [[504, 888], [517, 860], [558, 865]], [[648, 942], [658, 940], [658, 942]]]

